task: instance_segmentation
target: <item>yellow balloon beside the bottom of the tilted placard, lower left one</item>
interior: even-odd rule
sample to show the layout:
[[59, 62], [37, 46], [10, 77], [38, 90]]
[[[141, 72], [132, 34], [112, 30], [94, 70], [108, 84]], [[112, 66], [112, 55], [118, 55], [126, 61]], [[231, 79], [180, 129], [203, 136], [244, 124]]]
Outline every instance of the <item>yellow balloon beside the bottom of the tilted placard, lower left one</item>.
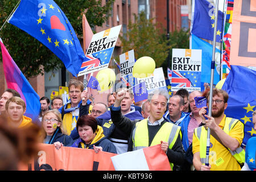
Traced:
[[105, 90], [109, 90], [115, 82], [115, 72], [110, 69], [101, 69], [96, 75], [96, 78], [100, 84], [101, 90], [98, 92], [104, 92]]

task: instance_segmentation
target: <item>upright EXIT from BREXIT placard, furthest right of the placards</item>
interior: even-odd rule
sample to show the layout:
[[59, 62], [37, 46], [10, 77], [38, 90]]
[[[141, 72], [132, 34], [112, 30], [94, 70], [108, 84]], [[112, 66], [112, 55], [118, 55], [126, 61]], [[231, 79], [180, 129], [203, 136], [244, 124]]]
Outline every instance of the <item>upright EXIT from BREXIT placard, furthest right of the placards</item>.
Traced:
[[188, 92], [201, 89], [201, 49], [172, 49], [171, 90], [186, 89]]

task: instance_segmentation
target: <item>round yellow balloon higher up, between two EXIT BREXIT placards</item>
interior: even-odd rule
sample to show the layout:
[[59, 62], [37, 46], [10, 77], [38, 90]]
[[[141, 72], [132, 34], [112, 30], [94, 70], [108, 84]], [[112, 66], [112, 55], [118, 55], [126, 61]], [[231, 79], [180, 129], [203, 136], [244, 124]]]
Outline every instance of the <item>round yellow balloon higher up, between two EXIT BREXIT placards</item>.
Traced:
[[133, 77], [146, 78], [152, 75], [155, 70], [155, 61], [151, 57], [139, 58], [133, 66]]

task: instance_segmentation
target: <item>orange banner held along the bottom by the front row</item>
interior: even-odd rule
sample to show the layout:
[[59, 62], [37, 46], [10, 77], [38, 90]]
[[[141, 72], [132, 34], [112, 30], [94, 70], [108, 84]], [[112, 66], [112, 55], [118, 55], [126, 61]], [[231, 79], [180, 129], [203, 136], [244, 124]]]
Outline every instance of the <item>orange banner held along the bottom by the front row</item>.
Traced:
[[21, 164], [20, 171], [114, 171], [112, 156], [109, 152], [73, 147], [57, 150], [53, 144], [40, 144], [38, 158], [30, 164]]

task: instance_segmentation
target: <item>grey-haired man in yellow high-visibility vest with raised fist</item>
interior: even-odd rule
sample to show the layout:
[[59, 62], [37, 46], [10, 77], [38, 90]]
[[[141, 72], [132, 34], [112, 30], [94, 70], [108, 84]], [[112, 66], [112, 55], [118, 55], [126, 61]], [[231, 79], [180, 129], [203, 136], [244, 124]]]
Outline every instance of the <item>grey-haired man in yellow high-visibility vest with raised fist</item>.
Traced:
[[167, 154], [171, 168], [173, 170], [179, 169], [179, 166], [184, 163], [180, 126], [166, 122], [163, 118], [169, 97], [167, 90], [159, 89], [149, 94], [149, 117], [134, 121], [123, 117], [121, 113], [120, 105], [126, 92], [128, 90], [122, 89], [116, 94], [115, 103], [110, 107], [110, 110], [114, 125], [129, 136], [128, 151], [160, 144], [161, 149]]

